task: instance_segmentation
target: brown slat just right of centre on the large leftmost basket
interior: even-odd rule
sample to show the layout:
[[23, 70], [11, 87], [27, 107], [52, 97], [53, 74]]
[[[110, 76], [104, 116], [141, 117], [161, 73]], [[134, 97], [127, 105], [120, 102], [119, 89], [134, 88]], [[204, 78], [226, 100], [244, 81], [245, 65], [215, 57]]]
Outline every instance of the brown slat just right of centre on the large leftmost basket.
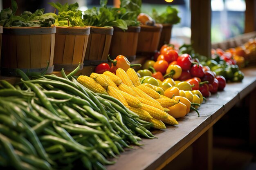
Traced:
[[[41, 68], [42, 57], [46, 57], [42, 55], [42, 42], [45, 41], [42, 39], [42, 35], [30, 35], [30, 52], [31, 52], [31, 67], [30, 68]], [[42, 40], [42, 41], [38, 41]], [[45, 42], [44, 42], [45, 43]]]

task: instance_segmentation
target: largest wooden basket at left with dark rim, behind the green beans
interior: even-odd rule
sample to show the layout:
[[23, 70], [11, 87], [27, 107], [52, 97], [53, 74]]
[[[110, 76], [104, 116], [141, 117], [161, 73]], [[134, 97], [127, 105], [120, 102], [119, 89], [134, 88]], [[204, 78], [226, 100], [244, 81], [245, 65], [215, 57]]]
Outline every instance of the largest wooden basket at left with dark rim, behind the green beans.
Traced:
[[16, 75], [24, 72], [53, 72], [56, 26], [3, 28], [1, 73]]

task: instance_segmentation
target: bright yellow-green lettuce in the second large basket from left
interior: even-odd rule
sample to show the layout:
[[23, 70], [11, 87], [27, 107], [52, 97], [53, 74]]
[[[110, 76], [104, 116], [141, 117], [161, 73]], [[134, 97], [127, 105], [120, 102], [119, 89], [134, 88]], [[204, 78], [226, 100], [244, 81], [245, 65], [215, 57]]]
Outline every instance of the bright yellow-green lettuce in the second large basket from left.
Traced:
[[60, 4], [59, 2], [49, 2], [52, 7], [58, 10], [58, 15], [53, 14], [56, 19], [56, 26], [84, 26], [82, 20], [82, 11], [78, 10], [78, 3]]

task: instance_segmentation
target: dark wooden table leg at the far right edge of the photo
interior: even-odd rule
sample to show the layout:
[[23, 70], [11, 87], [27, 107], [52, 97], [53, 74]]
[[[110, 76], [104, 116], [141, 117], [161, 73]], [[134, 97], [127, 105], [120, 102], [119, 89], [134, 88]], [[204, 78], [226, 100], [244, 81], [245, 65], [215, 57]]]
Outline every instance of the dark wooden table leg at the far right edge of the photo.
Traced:
[[256, 148], [256, 88], [249, 94], [249, 144]]

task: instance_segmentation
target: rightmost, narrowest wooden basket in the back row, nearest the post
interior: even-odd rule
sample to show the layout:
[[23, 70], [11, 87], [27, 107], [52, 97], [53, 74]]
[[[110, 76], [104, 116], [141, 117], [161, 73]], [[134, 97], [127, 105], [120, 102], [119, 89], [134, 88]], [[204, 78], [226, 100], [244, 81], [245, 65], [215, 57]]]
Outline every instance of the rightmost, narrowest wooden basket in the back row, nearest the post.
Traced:
[[162, 24], [163, 29], [159, 40], [158, 50], [161, 49], [161, 47], [164, 44], [169, 44], [171, 40], [171, 30], [173, 28], [172, 24]]

